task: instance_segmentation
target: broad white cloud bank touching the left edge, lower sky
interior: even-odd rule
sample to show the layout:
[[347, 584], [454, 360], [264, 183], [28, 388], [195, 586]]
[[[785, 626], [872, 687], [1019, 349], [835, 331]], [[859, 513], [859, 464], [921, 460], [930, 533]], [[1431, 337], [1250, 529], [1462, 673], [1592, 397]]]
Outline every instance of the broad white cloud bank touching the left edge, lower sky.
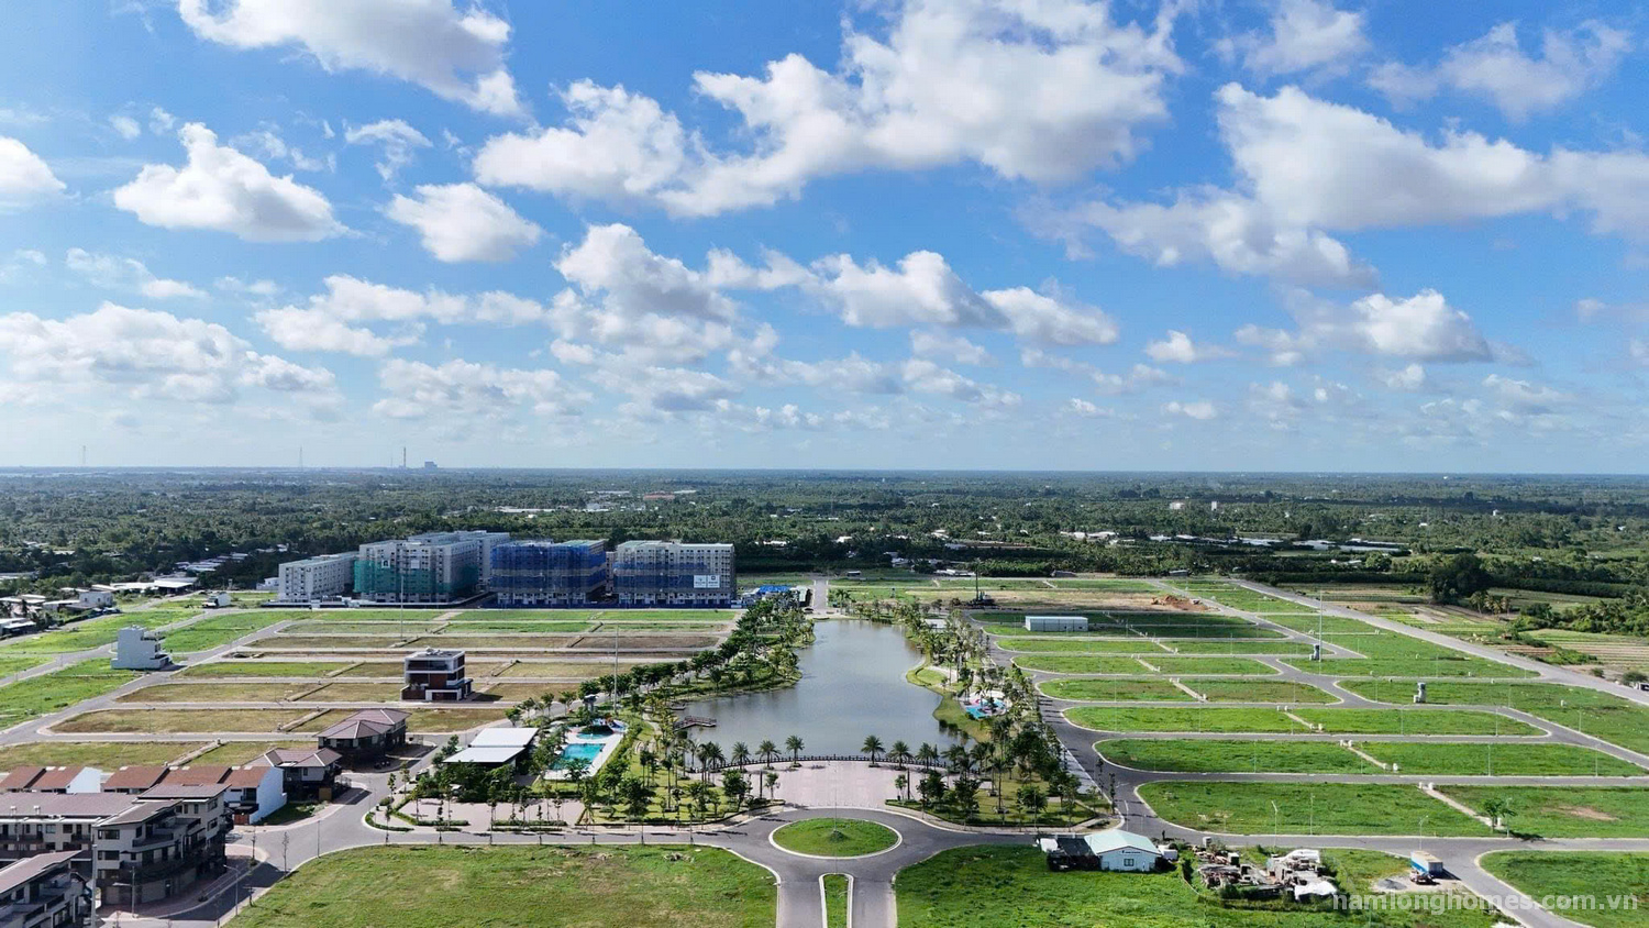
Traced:
[[249, 351], [218, 323], [115, 303], [63, 320], [0, 315], [0, 353], [13, 381], [114, 387], [134, 399], [231, 402], [242, 386], [333, 391], [331, 373]]

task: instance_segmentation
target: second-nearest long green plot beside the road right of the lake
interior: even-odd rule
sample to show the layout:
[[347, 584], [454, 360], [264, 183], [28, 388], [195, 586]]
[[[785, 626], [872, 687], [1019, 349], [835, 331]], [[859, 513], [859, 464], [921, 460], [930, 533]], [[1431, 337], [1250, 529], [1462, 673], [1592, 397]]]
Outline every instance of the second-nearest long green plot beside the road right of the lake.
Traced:
[[1172, 773], [1379, 773], [1331, 742], [1115, 738], [1093, 750], [1111, 763]]

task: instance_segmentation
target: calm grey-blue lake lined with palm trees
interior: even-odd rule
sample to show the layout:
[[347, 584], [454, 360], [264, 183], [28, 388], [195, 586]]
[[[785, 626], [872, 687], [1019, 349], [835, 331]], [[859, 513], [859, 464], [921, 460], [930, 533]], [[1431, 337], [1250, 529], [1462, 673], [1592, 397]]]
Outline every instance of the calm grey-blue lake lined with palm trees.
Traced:
[[734, 742], [755, 753], [763, 738], [783, 750], [790, 735], [806, 742], [805, 753], [859, 753], [866, 735], [882, 747], [902, 740], [912, 752], [922, 742], [940, 750], [955, 742], [933, 719], [940, 696], [905, 682], [922, 651], [904, 631], [859, 620], [820, 621], [813, 631], [813, 644], [798, 653], [796, 686], [689, 702], [684, 715], [716, 719], [714, 729], [694, 729], [693, 740], [716, 742], [724, 753]]

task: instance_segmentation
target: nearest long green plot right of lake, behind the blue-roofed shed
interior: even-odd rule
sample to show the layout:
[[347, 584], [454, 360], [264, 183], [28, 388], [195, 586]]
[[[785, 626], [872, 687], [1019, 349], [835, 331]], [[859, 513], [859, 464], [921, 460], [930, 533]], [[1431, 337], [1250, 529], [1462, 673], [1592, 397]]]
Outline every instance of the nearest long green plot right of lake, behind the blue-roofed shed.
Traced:
[[[1179, 783], [1139, 786], [1158, 816], [1235, 834], [1482, 836], [1489, 827], [1415, 786], [1384, 783]], [[1275, 808], [1273, 808], [1275, 806]]]

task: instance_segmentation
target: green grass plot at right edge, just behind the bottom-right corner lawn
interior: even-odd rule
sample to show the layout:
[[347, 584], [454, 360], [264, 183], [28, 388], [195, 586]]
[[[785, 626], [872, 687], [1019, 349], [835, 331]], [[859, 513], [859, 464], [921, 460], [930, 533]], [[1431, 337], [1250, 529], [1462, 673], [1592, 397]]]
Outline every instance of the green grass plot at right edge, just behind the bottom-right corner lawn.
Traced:
[[1642, 837], [1649, 827], [1649, 790], [1623, 786], [1438, 786], [1468, 808], [1482, 811], [1504, 799], [1512, 813], [1502, 823], [1519, 834], [1542, 837]]

